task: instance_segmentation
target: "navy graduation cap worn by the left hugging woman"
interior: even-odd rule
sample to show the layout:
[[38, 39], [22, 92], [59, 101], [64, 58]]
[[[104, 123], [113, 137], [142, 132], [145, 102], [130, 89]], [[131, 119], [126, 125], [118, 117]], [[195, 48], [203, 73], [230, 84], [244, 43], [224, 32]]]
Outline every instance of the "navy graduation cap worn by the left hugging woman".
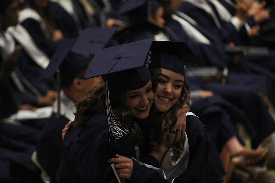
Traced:
[[150, 80], [145, 67], [153, 38], [118, 45], [98, 51], [86, 73], [85, 79], [101, 76], [110, 88], [135, 90]]

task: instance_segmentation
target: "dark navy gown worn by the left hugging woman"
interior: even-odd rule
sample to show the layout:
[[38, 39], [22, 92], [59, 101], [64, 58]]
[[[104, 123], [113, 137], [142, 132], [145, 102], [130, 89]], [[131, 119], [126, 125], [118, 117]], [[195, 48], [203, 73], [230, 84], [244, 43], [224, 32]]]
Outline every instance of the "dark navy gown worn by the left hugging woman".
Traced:
[[[99, 113], [82, 126], [71, 125], [63, 140], [57, 182], [118, 182], [111, 164], [106, 162], [116, 154], [136, 158], [129, 136], [123, 135], [116, 141], [112, 135], [110, 137], [106, 114]], [[153, 159], [150, 160], [153, 166], [159, 166], [155, 158], [149, 159]], [[157, 170], [134, 160], [133, 164], [131, 182], [167, 182]]]

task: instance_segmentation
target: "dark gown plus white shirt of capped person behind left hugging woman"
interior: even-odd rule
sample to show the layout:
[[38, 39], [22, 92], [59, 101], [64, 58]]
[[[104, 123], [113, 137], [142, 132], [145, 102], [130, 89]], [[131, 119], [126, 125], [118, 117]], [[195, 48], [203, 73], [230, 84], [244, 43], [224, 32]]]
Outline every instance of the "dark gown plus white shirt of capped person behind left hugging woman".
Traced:
[[75, 101], [68, 98], [63, 91], [60, 93], [60, 116], [57, 117], [57, 101], [53, 105], [53, 113], [45, 120], [45, 127], [36, 145], [39, 164], [50, 176], [56, 180], [56, 173], [60, 165], [62, 155], [62, 130], [69, 121], [73, 121], [75, 115]]

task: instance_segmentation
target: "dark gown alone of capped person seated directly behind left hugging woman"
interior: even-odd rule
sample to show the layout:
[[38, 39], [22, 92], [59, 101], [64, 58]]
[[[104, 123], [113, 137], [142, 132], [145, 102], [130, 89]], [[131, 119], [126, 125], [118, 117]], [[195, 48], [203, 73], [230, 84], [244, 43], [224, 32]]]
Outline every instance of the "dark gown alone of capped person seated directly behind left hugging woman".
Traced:
[[46, 120], [36, 145], [39, 164], [47, 172], [53, 182], [56, 180], [57, 170], [62, 155], [62, 130], [70, 120], [66, 117], [56, 117], [56, 113]]

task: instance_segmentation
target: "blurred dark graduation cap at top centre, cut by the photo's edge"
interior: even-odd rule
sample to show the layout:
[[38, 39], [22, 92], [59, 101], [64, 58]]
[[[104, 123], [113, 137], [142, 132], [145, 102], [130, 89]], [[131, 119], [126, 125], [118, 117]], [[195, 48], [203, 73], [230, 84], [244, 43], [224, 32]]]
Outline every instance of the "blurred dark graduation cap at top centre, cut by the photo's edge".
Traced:
[[116, 12], [117, 16], [127, 15], [132, 24], [148, 19], [161, 7], [156, 0], [129, 0]]

